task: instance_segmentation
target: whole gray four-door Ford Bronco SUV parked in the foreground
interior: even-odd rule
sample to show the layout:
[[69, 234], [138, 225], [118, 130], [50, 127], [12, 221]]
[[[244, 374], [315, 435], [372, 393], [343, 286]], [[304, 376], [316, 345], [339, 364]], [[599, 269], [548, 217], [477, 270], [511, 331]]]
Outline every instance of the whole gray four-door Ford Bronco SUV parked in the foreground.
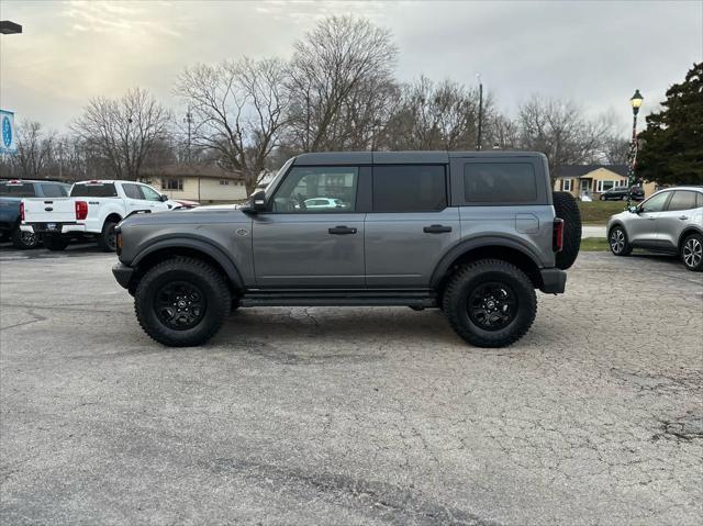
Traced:
[[288, 160], [243, 206], [137, 214], [113, 273], [144, 331], [208, 342], [232, 309], [439, 307], [468, 343], [502, 347], [562, 293], [581, 221], [542, 154], [358, 152]]

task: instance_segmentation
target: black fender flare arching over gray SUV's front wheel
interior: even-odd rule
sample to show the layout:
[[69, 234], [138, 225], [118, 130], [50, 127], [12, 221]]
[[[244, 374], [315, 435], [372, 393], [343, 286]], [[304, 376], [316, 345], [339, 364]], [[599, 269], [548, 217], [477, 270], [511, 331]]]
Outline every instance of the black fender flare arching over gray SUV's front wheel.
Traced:
[[158, 262], [177, 256], [202, 259], [226, 278], [233, 292], [244, 289], [244, 280], [239, 270], [222, 249], [205, 240], [189, 237], [160, 239], [140, 251], [130, 262], [130, 266], [136, 269], [132, 280], [138, 281], [148, 269]]

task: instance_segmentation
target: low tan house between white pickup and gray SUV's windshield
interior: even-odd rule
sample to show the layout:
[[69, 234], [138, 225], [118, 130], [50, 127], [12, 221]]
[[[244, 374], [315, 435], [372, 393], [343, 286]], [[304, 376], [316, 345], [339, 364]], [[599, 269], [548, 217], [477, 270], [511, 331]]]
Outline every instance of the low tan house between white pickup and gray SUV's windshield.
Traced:
[[217, 204], [247, 198], [244, 178], [211, 165], [165, 165], [144, 168], [140, 181], [152, 184], [170, 199]]

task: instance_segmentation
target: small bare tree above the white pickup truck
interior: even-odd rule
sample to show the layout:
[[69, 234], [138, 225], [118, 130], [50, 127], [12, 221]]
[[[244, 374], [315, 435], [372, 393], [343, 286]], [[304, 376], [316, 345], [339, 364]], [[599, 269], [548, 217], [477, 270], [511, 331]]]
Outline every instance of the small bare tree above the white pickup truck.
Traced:
[[94, 148], [118, 179], [135, 180], [149, 149], [167, 135], [170, 112], [148, 91], [130, 90], [119, 99], [92, 99], [71, 125]]

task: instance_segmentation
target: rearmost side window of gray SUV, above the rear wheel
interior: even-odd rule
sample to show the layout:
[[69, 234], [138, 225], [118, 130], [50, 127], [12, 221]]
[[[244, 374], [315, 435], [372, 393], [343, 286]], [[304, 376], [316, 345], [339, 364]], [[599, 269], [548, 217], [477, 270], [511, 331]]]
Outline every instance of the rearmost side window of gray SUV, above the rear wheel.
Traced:
[[464, 198], [469, 203], [525, 203], [537, 199], [535, 168], [529, 163], [467, 163]]

